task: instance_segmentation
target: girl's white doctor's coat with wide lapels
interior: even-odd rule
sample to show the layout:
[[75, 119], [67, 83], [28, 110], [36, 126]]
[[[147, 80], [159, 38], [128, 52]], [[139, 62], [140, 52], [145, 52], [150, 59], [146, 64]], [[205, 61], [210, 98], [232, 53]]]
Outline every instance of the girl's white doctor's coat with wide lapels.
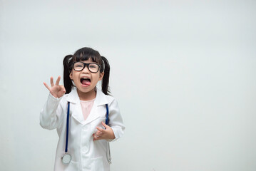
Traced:
[[[68, 153], [72, 159], [68, 165], [63, 165], [61, 157], [65, 154], [66, 145], [66, 117], [67, 106], [70, 102], [70, 129], [68, 135]], [[71, 93], [63, 95], [62, 98], [48, 96], [40, 114], [40, 125], [42, 128], [57, 129], [58, 145], [55, 158], [55, 171], [109, 171], [110, 165], [107, 161], [106, 140], [93, 141], [93, 133], [96, 127], [103, 128], [101, 122], [106, 120], [106, 104], [109, 108], [109, 126], [111, 126], [116, 139], [123, 135], [125, 129], [116, 100], [102, 93], [97, 88], [96, 99], [93, 103], [90, 115], [83, 119], [80, 99], [76, 88]], [[115, 139], [115, 140], [116, 140]]]

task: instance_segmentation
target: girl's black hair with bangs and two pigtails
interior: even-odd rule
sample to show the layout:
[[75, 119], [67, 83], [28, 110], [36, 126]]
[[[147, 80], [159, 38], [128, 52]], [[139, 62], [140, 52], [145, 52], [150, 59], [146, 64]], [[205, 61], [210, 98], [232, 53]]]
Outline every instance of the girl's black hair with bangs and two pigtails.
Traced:
[[89, 58], [100, 66], [100, 73], [104, 72], [102, 79], [101, 90], [104, 94], [108, 95], [110, 90], [108, 90], [108, 82], [110, 76], [110, 66], [108, 60], [101, 56], [98, 51], [92, 48], [80, 48], [73, 55], [65, 56], [63, 59], [63, 83], [66, 89], [66, 94], [70, 93], [73, 89], [73, 82], [71, 80], [70, 73], [73, 69], [73, 62], [86, 61]]

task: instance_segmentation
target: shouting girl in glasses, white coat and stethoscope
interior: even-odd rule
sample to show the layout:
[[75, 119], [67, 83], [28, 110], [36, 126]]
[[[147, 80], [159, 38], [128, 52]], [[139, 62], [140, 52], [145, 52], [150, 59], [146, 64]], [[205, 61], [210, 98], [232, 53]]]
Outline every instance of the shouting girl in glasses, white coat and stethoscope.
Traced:
[[108, 171], [108, 142], [125, 129], [118, 103], [108, 95], [108, 61], [92, 48], [81, 48], [63, 59], [63, 67], [64, 86], [60, 76], [55, 84], [51, 77], [51, 87], [43, 83], [50, 93], [40, 114], [41, 127], [58, 133], [54, 170]]

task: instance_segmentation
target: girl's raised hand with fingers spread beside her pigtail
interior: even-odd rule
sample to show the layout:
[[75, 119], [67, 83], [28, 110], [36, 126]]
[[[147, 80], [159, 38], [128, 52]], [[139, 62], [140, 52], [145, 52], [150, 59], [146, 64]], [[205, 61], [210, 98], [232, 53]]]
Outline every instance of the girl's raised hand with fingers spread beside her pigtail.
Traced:
[[53, 83], [53, 77], [51, 77], [51, 87], [48, 86], [45, 82], [43, 82], [43, 85], [46, 86], [46, 88], [50, 91], [51, 95], [53, 95], [56, 98], [61, 98], [65, 93], [66, 89], [62, 85], [58, 85], [60, 83], [61, 76], [58, 76], [56, 83]]

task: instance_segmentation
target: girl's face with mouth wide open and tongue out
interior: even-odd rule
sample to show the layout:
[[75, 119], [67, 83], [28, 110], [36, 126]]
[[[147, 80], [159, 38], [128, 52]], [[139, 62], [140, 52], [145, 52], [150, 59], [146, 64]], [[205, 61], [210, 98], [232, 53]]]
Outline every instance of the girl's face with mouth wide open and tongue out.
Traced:
[[[86, 61], [82, 61], [83, 63], [94, 63], [91, 58]], [[88, 70], [88, 66], [83, 68], [82, 71], [75, 71], [72, 68], [72, 71], [69, 75], [73, 83], [75, 84], [78, 94], [79, 93], [94, 93], [94, 88], [96, 87], [98, 81], [101, 81], [104, 73], [100, 73], [98, 70], [97, 73], [91, 73]]]

